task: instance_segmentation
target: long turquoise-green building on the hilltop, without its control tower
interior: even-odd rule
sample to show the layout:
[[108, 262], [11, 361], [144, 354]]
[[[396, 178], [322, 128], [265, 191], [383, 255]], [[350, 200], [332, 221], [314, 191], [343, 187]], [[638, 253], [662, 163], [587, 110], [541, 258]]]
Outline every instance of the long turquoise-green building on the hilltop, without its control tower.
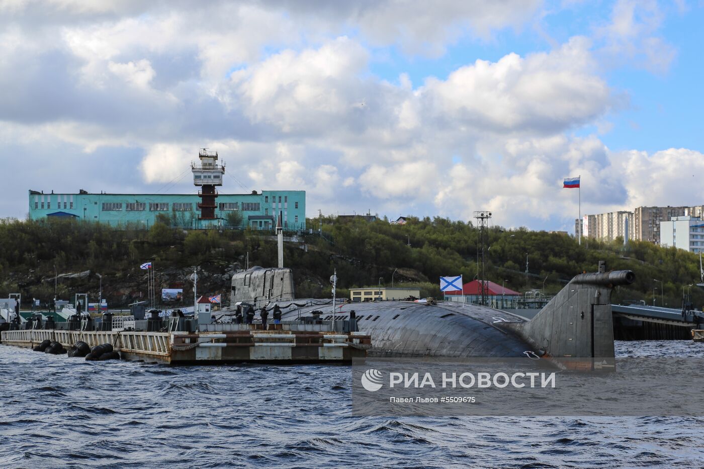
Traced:
[[199, 194], [44, 194], [30, 190], [31, 220], [45, 217], [75, 218], [112, 226], [150, 227], [157, 215], [184, 228], [251, 227], [273, 230], [282, 213], [284, 230], [306, 229], [306, 191], [253, 191], [251, 194], [216, 194], [215, 219], [202, 219]]

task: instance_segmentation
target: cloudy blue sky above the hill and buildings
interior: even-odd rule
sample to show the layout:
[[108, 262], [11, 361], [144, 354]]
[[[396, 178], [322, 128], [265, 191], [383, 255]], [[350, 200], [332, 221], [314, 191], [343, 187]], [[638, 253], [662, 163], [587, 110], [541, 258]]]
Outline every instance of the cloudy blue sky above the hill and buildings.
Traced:
[[700, 0], [0, 0], [0, 218], [27, 191], [306, 190], [574, 231], [704, 204]]

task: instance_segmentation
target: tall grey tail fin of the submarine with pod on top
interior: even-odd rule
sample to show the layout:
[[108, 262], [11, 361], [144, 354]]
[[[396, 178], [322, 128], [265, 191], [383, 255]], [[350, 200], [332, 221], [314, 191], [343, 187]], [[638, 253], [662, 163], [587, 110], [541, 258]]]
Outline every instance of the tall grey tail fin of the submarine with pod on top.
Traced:
[[513, 328], [543, 356], [553, 358], [613, 358], [614, 334], [611, 292], [634, 282], [631, 270], [575, 276], [565, 288], [527, 323]]

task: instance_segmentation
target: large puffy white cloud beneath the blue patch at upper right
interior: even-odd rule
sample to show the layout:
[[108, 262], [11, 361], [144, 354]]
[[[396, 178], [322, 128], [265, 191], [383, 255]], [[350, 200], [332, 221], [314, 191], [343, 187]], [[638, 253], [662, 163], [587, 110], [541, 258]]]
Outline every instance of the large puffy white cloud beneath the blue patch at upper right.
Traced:
[[610, 91], [595, 75], [589, 42], [574, 37], [550, 53], [476, 61], [423, 89], [438, 118], [513, 132], [555, 132], [603, 115]]

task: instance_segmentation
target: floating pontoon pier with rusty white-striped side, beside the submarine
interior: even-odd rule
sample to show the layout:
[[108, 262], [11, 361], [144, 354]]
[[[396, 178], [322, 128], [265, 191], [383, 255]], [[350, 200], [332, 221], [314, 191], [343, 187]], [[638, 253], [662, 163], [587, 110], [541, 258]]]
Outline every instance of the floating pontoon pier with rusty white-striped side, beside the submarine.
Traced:
[[336, 332], [328, 321], [270, 327], [213, 324], [201, 332], [8, 330], [1, 337], [2, 344], [30, 348], [44, 339], [67, 348], [78, 341], [89, 346], [109, 343], [123, 359], [168, 365], [350, 363], [365, 356], [371, 343], [367, 333]]

